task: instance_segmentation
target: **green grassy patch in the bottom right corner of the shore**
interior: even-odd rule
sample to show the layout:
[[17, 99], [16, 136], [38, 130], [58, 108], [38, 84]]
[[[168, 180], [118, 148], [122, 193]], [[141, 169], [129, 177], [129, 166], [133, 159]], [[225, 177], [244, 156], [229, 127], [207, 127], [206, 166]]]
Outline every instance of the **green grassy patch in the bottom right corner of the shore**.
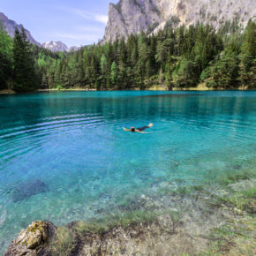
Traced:
[[255, 255], [256, 221], [253, 214], [256, 206], [256, 188], [218, 197], [216, 202], [219, 205], [228, 204], [238, 208], [243, 218], [234, 217], [222, 227], [213, 229], [211, 238], [215, 242], [201, 255]]

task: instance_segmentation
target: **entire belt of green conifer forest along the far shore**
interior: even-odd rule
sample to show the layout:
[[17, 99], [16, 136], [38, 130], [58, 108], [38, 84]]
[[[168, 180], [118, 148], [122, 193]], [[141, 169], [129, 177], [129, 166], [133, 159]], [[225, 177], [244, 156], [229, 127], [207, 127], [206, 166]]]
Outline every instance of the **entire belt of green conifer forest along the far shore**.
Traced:
[[[236, 21], [218, 32], [211, 26], [168, 23], [157, 34], [130, 35], [69, 54], [53, 54], [0, 32], [0, 87], [16, 91], [36, 88], [147, 89], [255, 88], [255, 22], [241, 32]], [[29, 76], [29, 77], [28, 77]]]

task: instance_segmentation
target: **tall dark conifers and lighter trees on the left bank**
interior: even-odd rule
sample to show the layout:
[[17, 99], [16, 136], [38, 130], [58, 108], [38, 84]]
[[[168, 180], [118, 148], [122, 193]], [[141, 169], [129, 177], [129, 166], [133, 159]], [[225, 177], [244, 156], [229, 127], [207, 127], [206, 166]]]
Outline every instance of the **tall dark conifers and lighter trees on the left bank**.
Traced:
[[64, 57], [62, 53], [53, 53], [28, 42], [23, 28], [21, 32], [16, 29], [12, 39], [0, 24], [0, 90], [37, 90], [41, 87], [45, 62], [61, 57]]

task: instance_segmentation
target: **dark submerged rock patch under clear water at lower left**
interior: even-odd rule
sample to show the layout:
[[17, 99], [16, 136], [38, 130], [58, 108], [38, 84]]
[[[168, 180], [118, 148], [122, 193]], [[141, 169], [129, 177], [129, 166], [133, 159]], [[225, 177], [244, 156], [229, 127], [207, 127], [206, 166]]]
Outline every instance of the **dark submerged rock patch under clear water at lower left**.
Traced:
[[29, 181], [27, 183], [19, 184], [19, 186], [14, 189], [12, 192], [12, 200], [14, 203], [16, 203], [20, 200], [30, 198], [35, 194], [47, 191], [47, 185], [44, 184], [41, 180]]

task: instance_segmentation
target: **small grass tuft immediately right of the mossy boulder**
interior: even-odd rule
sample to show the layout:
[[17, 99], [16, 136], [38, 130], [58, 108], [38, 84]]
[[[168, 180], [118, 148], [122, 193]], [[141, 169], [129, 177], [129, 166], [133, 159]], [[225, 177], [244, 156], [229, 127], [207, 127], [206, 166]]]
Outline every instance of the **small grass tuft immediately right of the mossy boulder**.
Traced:
[[50, 252], [52, 255], [70, 255], [75, 248], [75, 234], [66, 227], [58, 227], [56, 235], [51, 243]]

